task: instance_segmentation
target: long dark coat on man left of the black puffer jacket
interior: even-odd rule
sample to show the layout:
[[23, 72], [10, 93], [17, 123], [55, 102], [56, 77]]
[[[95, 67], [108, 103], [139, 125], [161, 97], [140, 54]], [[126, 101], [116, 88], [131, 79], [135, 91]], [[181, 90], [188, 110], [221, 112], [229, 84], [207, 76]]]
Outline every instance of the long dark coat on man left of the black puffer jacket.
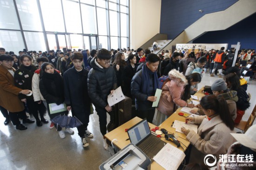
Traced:
[[83, 68], [77, 72], [74, 66], [68, 69], [64, 75], [64, 94], [67, 106], [71, 106], [72, 115], [76, 116], [83, 124], [86, 124], [86, 115], [90, 114], [91, 100], [87, 88], [88, 71]]

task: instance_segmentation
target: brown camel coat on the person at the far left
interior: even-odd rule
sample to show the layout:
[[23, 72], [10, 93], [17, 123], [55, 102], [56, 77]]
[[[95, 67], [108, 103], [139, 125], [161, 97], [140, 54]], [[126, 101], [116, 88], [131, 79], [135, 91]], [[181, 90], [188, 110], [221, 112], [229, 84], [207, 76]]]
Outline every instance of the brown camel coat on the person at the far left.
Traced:
[[[12, 70], [15, 72], [14, 68]], [[18, 98], [21, 90], [14, 86], [13, 75], [0, 65], [0, 105], [10, 112], [23, 111], [24, 105]]]

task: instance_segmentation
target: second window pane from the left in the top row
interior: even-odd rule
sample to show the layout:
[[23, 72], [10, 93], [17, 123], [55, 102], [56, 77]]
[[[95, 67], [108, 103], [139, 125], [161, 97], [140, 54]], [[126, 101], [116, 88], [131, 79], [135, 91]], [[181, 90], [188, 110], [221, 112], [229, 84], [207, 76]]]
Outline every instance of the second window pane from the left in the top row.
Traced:
[[36, 0], [16, 0], [23, 30], [43, 31]]

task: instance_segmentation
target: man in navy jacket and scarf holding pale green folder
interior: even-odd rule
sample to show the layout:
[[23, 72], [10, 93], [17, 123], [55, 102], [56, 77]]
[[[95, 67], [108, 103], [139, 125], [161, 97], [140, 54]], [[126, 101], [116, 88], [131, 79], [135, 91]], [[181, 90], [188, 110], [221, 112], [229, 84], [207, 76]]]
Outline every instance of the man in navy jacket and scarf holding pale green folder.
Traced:
[[131, 83], [131, 94], [135, 97], [135, 107], [140, 118], [147, 118], [152, 123], [155, 115], [155, 107], [152, 107], [155, 97], [155, 91], [159, 88], [157, 67], [159, 57], [154, 54], [148, 54], [146, 64], [135, 74]]

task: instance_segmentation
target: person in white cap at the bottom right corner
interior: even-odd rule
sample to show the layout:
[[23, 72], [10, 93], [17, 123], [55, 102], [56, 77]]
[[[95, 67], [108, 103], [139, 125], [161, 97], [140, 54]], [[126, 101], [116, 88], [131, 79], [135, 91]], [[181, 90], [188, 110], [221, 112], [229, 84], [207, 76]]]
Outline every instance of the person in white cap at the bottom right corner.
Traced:
[[[256, 168], [256, 124], [249, 127], [249, 129], [244, 134], [236, 134], [233, 136], [237, 142], [232, 144], [229, 147], [227, 156], [229, 159], [221, 159], [218, 161], [217, 170], [230, 170], [230, 167], [233, 167], [232, 170], [253, 170]], [[231, 134], [232, 135], [232, 134]], [[234, 157], [231, 158], [231, 155]], [[239, 157], [240, 156], [240, 157]], [[249, 156], [250, 159], [248, 159]], [[222, 164], [222, 166], [220, 165]], [[229, 167], [229, 168], [227, 168]]]

